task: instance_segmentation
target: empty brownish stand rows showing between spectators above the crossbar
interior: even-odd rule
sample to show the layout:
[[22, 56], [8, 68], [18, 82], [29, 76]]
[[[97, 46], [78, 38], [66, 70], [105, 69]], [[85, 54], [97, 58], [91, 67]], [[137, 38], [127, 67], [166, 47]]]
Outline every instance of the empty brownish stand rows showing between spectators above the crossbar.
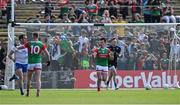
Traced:
[[[56, 5], [56, 1], [51, 2], [53, 6]], [[85, 2], [84, 0], [70, 0], [69, 4], [75, 5], [76, 7], [84, 7]], [[175, 16], [180, 15], [180, 1], [179, 0], [171, 0], [171, 4], [174, 7], [174, 14]], [[26, 22], [29, 18], [35, 18], [37, 14], [44, 13], [45, 3], [41, 1], [35, 1], [31, 3], [27, 3], [25, 5], [19, 4], [17, 2], [15, 8], [16, 14], [16, 22]], [[1, 8], [2, 10], [2, 8]], [[2, 12], [2, 11], [1, 11]], [[52, 10], [52, 15], [58, 16], [60, 13], [60, 9], [56, 6]], [[130, 17], [131, 18], [131, 17]], [[43, 17], [41, 17], [43, 20]], [[7, 40], [7, 25], [6, 25], [6, 17], [2, 17], [0, 19], [0, 39]], [[17, 32], [18, 34], [18, 32]]]

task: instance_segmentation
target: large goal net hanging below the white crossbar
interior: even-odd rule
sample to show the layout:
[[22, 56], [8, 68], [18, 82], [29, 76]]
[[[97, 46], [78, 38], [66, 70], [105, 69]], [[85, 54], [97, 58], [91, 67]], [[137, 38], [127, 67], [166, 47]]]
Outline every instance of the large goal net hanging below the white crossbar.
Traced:
[[[43, 65], [42, 88], [73, 88], [74, 70], [94, 70], [91, 54], [100, 37], [107, 39], [107, 46], [116, 38], [121, 48], [117, 70], [164, 70], [176, 75], [174, 71], [180, 70], [179, 27], [178, 23], [16, 23], [13, 32], [8, 28], [8, 50], [18, 43], [19, 35], [33, 40], [32, 33], [39, 33], [52, 58], [50, 67]], [[47, 56], [42, 56], [45, 63]], [[9, 84], [14, 66], [12, 62], [7, 65], [5, 81]]]

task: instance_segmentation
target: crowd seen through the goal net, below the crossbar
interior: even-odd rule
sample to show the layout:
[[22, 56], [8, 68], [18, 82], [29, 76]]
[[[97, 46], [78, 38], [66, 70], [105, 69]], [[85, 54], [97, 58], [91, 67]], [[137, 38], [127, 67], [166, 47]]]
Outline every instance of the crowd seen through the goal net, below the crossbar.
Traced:
[[[118, 70], [174, 69], [175, 62], [171, 59], [174, 60], [175, 56], [177, 58], [176, 69], [180, 69], [180, 45], [179, 42], [172, 43], [175, 33], [171, 27], [128, 26], [125, 27], [124, 36], [116, 31], [116, 29], [122, 29], [122, 26], [98, 27], [98, 30], [95, 30], [94, 27], [81, 27], [78, 30], [80, 33], [77, 35], [73, 33], [74, 27], [68, 28], [71, 30], [70, 32], [56, 34], [47, 39], [53, 40], [47, 42], [53, 48], [50, 50], [52, 56], [56, 56], [58, 48], [63, 55], [61, 58], [55, 59], [57, 61], [64, 60], [63, 63], [59, 61], [62, 66], [72, 69], [94, 69], [94, 59], [91, 57], [92, 49], [98, 47], [97, 39], [99, 37], [106, 37], [108, 39], [116, 38], [118, 40], [117, 46], [121, 48], [118, 57]], [[169, 64], [171, 68], [169, 68]]]

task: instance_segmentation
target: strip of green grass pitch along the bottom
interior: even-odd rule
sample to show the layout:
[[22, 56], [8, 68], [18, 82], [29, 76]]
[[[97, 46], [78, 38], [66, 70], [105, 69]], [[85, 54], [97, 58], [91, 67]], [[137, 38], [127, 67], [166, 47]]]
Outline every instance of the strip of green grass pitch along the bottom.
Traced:
[[42, 89], [41, 96], [31, 90], [29, 97], [19, 90], [1, 90], [0, 104], [180, 104], [180, 90], [51, 90]]

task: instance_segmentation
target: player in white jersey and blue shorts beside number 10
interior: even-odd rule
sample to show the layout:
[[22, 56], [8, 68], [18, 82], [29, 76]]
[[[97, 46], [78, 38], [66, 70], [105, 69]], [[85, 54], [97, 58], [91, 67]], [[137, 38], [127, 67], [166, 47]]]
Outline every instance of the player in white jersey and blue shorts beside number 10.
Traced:
[[[27, 42], [27, 36], [24, 34], [20, 35], [19, 41], [20, 44], [16, 47], [23, 46], [23, 44]], [[26, 82], [26, 78], [27, 78], [28, 49], [24, 48], [17, 50], [16, 47], [12, 48], [8, 57], [15, 62], [15, 75], [19, 77], [19, 89], [21, 95], [24, 95], [23, 87], [24, 87], [24, 82]], [[13, 54], [15, 54], [14, 57]], [[13, 75], [10, 81], [17, 78], [15, 75]]]

